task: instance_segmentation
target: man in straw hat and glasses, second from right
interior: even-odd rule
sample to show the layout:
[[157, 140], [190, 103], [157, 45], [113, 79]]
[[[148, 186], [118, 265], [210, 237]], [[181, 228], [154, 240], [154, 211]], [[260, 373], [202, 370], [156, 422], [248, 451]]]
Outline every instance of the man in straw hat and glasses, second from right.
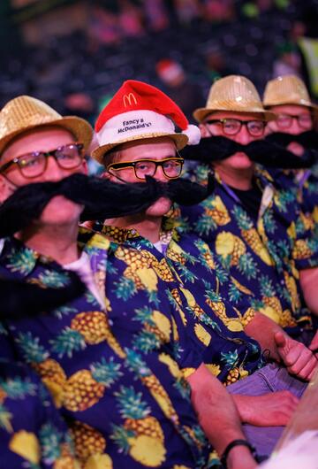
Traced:
[[[299, 221], [296, 197], [275, 188], [269, 174], [246, 154], [252, 142], [263, 138], [275, 115], [262, 107], [253, 83], [236, 75], [216, 81], [206, 107], [193, 115], [200, 122], [203, 141], [221, 140], [229, 143], [230, 151], [223, 158], [211, 154], [204, 165], [194, 167], [194, 178], [200, 181], [214, 173], [216, 188], [204, 202], [183, 210], [186, 224], [208, 242], [232, 279], [246, 288], [251, 306], [297, 337], [311, 319], [302, 296], [312, 311], [318, 311], [312, 290], [316, 247]], [[309, 276], [305, 279], [303, 273]], [[235, 304], [237, 299], [230, 295]], [[249, 328], [260, 334], [258, 320]], [[280, 339], [277, 347], [282, 346]]]

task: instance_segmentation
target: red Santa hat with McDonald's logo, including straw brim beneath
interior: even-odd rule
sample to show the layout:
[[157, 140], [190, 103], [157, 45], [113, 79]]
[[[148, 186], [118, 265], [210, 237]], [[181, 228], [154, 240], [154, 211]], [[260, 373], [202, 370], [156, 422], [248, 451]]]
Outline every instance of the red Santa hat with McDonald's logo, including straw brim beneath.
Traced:
[[[181, 132], [176, 132], [176, 127]], [[102, 163], [103, 156], [125, 142], [154, 137], [170, 137], [181, 150], [200, 142], [200, 130], [189, 126], [185, 114], [160, 89], [142, 81], [128, 80], [99, 115], [95, 132], [99, 146], [92, 157]]]

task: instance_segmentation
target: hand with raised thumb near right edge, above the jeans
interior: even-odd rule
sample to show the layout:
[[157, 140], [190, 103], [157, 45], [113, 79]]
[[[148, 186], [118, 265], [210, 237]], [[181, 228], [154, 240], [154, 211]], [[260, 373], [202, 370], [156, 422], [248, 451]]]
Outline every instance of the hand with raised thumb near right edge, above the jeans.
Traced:
[[283, 332], [276, 332], [274, 337], [277, 352], [288, 372], [296, 375], [301, 380], [309, 381], [318, 365], [313, 352], [306, 345], [293, 340]]

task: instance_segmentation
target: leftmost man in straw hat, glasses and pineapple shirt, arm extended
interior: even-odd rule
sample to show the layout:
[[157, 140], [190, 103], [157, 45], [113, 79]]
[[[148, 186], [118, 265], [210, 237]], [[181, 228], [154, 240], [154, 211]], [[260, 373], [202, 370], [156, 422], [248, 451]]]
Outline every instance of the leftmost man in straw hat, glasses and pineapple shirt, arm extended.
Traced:
[[[143, 123], [125, 120], [124, 127]], [[63, 118], [41, 101], [19, 96], [0, 112], [0, 128], [2, 200], [29, 181], [58, 182], [86, 172], [81, 147], [87, 148], [92, 131], [82, 119]], [[177, 140], [171, 126], [170, 135]], [[85, 230], [78, 242], [82, 209], [54, 196], [39, 219], [5, 239], [0, 258], [3, 273], [43, 288], [64, 285], [68, 270], [86, 283], [85, 295], [49, 315], [8, 321], [19, 358], [41, 375], [66, 417], [81, 465], [208, 466], [208, 442], [176, 361], [183, 357], [183, 365], [188, 359], [192, 367], [192, 402], [208, 440], [225, 451], [229, 468], [254, 469], [231, 396], [201, 356], [186, 350], [192, 339], [180, 308], [172, 319], [161, 266], [158, 273], [140, 268], [133, 288], [121, 260], [125, 250]], [[138, 263], [138, 252], [133, 254]], [[133, 298], [125, 295], [132, 288]]]

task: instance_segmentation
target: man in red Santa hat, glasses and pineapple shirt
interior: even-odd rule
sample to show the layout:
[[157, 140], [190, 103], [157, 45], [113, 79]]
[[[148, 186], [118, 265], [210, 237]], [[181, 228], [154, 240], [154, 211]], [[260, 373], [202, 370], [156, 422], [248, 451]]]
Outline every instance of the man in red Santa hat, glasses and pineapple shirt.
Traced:
[[[127, 102], [126, 96], [131, 96], [130, 102]], [[171, 134], [171, 116], [177, 121], [178, 127], [186, 129], [187, 122], [182, 111], [168, 96], [147, 83], [125, 81], [102, 110], [95, 126], [99, 145], [93, 151], [93, 157], [105, 165], [103, 176], [123, 183], [145, 181], [147, 176], [152, 176], [168, 187], [171, 180], [178, 180], [182, 165], [178, 150], [184, 147], [186, 139], [183, 138], [184, 135], [177, 138], [178, 135]], [[127, 122], [132, 122], [130, 128], [127, 128]], [[138, 127], [140, 122], [148, 122], [149, 125], [146, 128]], [[125, 132], [122, 131], [123, 126]], [[178, 189], [181, 190], [182, 184], [179, 182]], [[194, 185], [188, 190], [194, 190]], [[275, 366], [270, 369], [265, 367], [260, 373], [254, 373], [261, 366], [256, 358], [259, 346], [243, 330], [254, 318], [255, 311], [246, 307], [246, 302], [243, 301], [243, 297], [251, 293], [239, 282], [231, 283], [230, 276], [213, 257], [205, 242], [196, 235], [184, 235], [178, 227], [171, 224], [171, 220], [165, 218], [170, 206], [171, 199], [165, 197], [146, 212], [107, 219], [95, 224], [94, 229], [112, 241], [119, 242], [122, 249], [138, 251], [138, 263], [133, 261], [132, 254], [122, 255], [127, 265], [126, 272], [129, 271], [130, 275], [138, 273], [141, 265], [148, 265], [149, 259], [155, 269], [160, 269], [161, 275], [167, 279], [170, 300], [173, 302], [177, 299], [178, 306], [186, 306], [183, 307], [184, 321], [189, 336], [194, 339], [186, 344], [186, 349], [190, 351], [192, 347], [196, 347], [202, 350], [202, 343], [206, 346], [210, 343], [211, 347], [207, 351], [211, 355], [208, 360], [208, 353], [204, 354], [207, 359], [205, 363], [220, 381], [228, 385], [253, 373], [243, 380], [246, 383], [243, 394], [246, 396], [236, 396], [236, 404], [241, 418], [252, 424], [246, 427], [251, 441], [257, 444], [260, 454], [269, 454], [282, 431], [282, 427], [277, 426], [284, 425], [282, 414], [278, 416], [276, 413], [276, 404], [277, 409], [283, 409], [285, 399], [292, 397], [289, 393], [284, 394], [285, 390], [291, 389], [300, 396], [299, 389], [303, 388], [304, 383], [292, 380], [284, 368], [278, 369]], [[242, 314], [224, 299], [226, 288], [239, 300]], [[273, 335], [273, 325], [275, 331], [282, 334], [281, 329], [270, 320], [262, 321], [261, 334], [268, 336], [269, 330]], [[297, 369], [296, 374], [305, 379], [309, 377], [306, 373], [311, 365], [316, 365], [316, 360], [304, 345], [286, 338], [287, 347], [276, 348], [273, 346], [273, 338], [264, 338], [272, 351], [272, 358], [282, 358], [290, 372]], [[195, 339], [202, 342], [201, 346]], [[284, 355], [286, 349], [291, 352], [288, 358]], [[305, 374], [301, 374], [303, 368]], [[264, 382], [270, 382], [269, 387], [263, 386]], [[296, 387], [292, 389], [295, 382]], [[283, 393], [273, 392], [276, 390]], [[245, 404], [248, 416], [244, 411]], [[292, 410], [293, 402], [288, 406], [290, 404]], [[260, 405], [263, 409], [266, 408], [262, 414], [259, 411]], [[256, 426], [259, 428], [255, 428]], [[266, 428], [269, 426], [276, 428]], [[257, 441], [254, 439], [255, 434]]]

